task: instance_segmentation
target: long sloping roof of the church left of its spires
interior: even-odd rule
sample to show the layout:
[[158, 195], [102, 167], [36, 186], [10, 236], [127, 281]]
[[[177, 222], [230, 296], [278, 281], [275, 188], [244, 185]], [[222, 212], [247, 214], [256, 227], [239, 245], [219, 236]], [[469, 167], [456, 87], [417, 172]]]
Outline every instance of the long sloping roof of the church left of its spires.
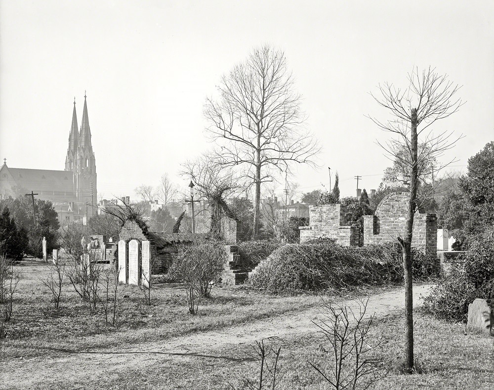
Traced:
[[4, 164], [0, 172], [8, 170], [16, 184], [28, 191], [74, 192], [73, 174], [68, 171], [50, 171], [46, 169], [9, 168]]

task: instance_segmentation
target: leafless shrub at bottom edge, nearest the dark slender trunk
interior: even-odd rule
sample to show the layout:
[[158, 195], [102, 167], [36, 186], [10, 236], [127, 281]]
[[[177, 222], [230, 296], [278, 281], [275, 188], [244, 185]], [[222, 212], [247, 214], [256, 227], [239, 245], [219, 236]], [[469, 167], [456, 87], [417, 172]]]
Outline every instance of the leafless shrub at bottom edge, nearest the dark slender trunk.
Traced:
[[367, 389], [388, 373], [383, 358], [376, 354], [384, 340], [372, 340], [369, 335], [374, 316], [365, 319], [368, 302], [359, 302], [358, 313], [324, 302], [325, 319], [313, 321], [329, 344], [329, 350], [322, 350], [331, 360], [329, 369], [319, 363], [309, 364], [332, 389]]

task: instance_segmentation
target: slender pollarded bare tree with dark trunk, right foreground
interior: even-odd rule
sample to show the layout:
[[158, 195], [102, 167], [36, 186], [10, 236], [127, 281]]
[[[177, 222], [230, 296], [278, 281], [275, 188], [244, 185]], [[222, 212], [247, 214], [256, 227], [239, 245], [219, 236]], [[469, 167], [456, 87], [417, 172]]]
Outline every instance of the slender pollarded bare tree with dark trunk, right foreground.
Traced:
[[[426, 159], [439, 158], [453, 147], [458, 138], [452, 139], [448, 131], [433, 134], [430, 126], [438, 119], [453, 114], [462, 105], [455, 98], [458, 85], [448, 80], [447, 75], [439, 75], [435, 69], [418, 72], [414, 68], [408, 75], [409, 86], [396, 88], [393, 84], [379, 85], [378, 96], [371, 96], [391, 114], [392, 119], [381, 122], [372, 121], [395, 138], [381, 146], [393, 157], [408, 167], [410, 171], [410, 201], [406, 229], [400, 242], [405, 270], [405, 355], [406, 368], [412, 371], [413, 362], [413, 302], [412, 302], [412, 235], [413, 216], [417, 210], [420, 166]], [[426, 131], [427, 130], [427, 131]], [[420, 142], [419, 142], [420, 137]], [[419, 144], [425, 145], [419, 152]], [[405, 153], [403, 153], [405, 150]]]

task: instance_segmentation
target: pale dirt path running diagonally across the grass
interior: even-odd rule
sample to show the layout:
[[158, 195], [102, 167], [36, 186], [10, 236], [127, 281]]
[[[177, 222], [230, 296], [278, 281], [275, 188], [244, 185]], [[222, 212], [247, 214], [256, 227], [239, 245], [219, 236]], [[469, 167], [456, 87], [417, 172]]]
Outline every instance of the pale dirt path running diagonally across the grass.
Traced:
[[[414, 286], [414, 302], [420, 294], [426, 295], [428, 285]], [[403, 309], [403, 288], [374, 295], [367, 307], [369, 314], [377, 317]], [[338, 303], [358, 310], [355, 301]], [[321, 318], [319, 308], [257, 320], [248, 324], [235, 325], [216, 331], [194, 333], [158, 342], [132, 344], [113, 350], [94, 350], [56, 357], [16, 359], [0, 366], [0, 389], [55, 389], [67, 380], [76, 383], [91, 383], [98, 378], [117, 377], [119, 372], [141, 365], [151, 365], [162, 360], [164, 355], [174, 361], [191, 358], [212, 357], [215, 350], [227, 345], [250, 345], [256, 340], [278, 336], [288, 338], [316, 331], [313, 320]], [[83, 389], [81, 387], [80, 389]]]

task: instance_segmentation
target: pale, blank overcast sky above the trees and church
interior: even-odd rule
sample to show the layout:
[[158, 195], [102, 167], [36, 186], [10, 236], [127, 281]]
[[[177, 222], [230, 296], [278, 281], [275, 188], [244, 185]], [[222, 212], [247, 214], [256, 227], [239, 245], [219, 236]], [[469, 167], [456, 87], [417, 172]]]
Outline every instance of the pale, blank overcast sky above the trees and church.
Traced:
[[[436, 67], [466, 102], [434, 129], [465, 137], [453, 169], [494, 139], [494, 1], [0, 0], [0, 157], [14, 168], [63, 170], [74, 96], [84, 90], [98, 196], [133, 196], [210, 148], [203, 105], [255, 46], [285, 51], [320, 169], [299, 167], [301, 191], [377, 188], [390, 165], [365, 115], [386, 119], [369, 92]], [[283, 184], [280, 185], [280, 188]], [[281, 192], [281, 191], [280, 191]]]

